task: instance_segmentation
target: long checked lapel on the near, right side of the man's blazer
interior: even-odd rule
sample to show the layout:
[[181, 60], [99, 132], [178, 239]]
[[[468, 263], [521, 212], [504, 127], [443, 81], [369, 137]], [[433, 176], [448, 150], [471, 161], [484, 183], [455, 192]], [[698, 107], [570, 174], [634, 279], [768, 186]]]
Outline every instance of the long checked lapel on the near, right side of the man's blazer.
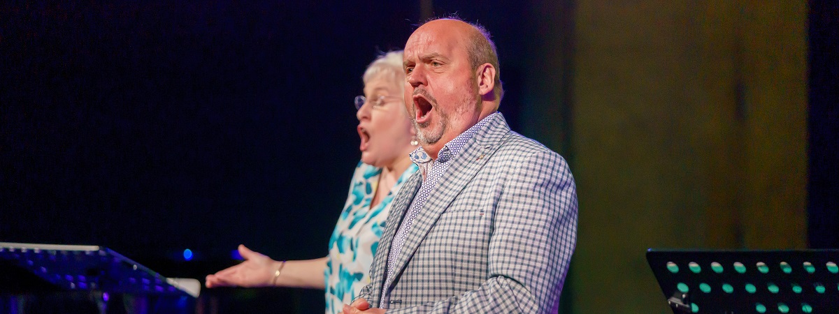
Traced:
[[[449, 204], [454, 201], [463, 188], [466, 188], [466, 183], [472, 181], [478, 170], [481, 170], [487, 160], [492, 157], [492, 153], [498, 150], [503, 136], [509, 132], [510, 128], [507, 126], [507, 121], [504, 121], [503, 116], [498, 114], [491, 121], [488, 121], [481, 130], [477, 131], [472, 140], [467, 142], [458, 156], [451, 161], [446, 173], [443, 174], [440, 182], [431, 191], [431, 195], [425, 206], [420, 210], [420, 214], [417, 214], [416, 219], [414, 219], [414, 224], [405, 238], [399, 258], [393, 265], [394, 278], [398, 278], [402, 274], [405, 266], [408, 265], [408, 261], [420, 247], [422, 240], [425, 239], [425, 235], [428, 234], [437, 219], [440, 219], [440, 215], [446, 212]], [[413, 197], [408, 203], [410, 204], [411, 201], [413, 201]], [[404, 216], [404, 213], [402, 215]], [[391, 281], [391, 285], [396, 281], [395, 279]], [[389, 289], [390, 287], [388, 287]]]

